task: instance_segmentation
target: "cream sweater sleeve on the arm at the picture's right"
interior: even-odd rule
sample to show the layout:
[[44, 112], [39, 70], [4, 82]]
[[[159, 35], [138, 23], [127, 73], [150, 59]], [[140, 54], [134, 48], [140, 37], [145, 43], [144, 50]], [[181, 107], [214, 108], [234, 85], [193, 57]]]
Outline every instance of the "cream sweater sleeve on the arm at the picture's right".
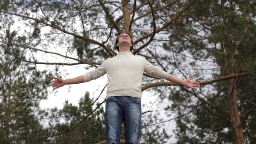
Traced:
[[157, 66], [152, 65], [146, 59], [144, 59], [144, 72], [161, 79], [167, 79], [169, 74], [168, 72], [164, 72], [163, 70], [159, 69]]

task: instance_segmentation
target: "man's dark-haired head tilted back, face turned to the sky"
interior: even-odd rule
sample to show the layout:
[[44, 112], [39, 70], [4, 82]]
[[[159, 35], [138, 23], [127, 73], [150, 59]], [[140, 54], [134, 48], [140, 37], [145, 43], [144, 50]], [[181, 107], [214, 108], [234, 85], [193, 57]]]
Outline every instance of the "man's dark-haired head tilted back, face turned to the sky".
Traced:
[[115, 39], [115, 48], [119, 52], [119, 46], [130, 46], [130, 52], [133, 49], [133, 40], [128, 32], [121, 33]]

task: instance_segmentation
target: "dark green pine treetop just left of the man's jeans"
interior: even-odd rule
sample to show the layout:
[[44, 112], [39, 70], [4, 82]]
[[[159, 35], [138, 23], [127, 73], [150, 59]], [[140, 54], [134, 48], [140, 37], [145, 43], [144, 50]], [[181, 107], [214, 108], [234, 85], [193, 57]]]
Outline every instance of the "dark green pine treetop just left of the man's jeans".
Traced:
[[[51, 133], [61, 133], [69, 130], [70, 127], [81, 122], [71, 131], [67, 131], [59, 136], [53, 137], [51, 144], [95, 144], [105, 140], [105, 112], [100, 106], [97, 111], [89, 115], [93, 111], [94, 99], [90, 98], [89, 92], [80, 98], [78, 105], [72, 105], [67, 100], [63, 108], [53, 108], [48, 111], [49, 127], [47, 129]], [[98, 104], [96, 104], [98, 105]], [[46, 135], [47, 136], [47, 135]]]

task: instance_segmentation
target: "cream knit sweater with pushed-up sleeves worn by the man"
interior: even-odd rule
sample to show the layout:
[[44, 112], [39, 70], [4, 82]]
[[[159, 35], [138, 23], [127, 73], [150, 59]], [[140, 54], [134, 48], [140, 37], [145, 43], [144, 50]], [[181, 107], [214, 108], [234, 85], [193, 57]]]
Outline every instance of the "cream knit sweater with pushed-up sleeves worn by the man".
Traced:
[[132, 96], [141, 98], [141, 83], [143, 72], [162, 79], [167, 79], [168, 73], [152, 65], [140, 56], [131, 52], [119, 52], [108, 58], [97, 69], [83, 75], [84, 82], [108, 75], [107, 98], [110, 96]]

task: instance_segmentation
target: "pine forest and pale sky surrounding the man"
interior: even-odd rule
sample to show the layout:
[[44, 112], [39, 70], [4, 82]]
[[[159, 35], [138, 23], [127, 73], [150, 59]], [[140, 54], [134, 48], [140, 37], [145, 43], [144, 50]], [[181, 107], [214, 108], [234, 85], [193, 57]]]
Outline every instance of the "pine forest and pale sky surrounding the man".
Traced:
[[[201, 85], [144, 73], [140, 144], [256, 144], [255, 16], [255, 0], [0, 0], [0, 143], [104, 144], [106, 78], [78, 95], [50, 81], [97, 68], [127, 31], [135, 56]], [[54, 95], [79, 101], [43, 108]]]

